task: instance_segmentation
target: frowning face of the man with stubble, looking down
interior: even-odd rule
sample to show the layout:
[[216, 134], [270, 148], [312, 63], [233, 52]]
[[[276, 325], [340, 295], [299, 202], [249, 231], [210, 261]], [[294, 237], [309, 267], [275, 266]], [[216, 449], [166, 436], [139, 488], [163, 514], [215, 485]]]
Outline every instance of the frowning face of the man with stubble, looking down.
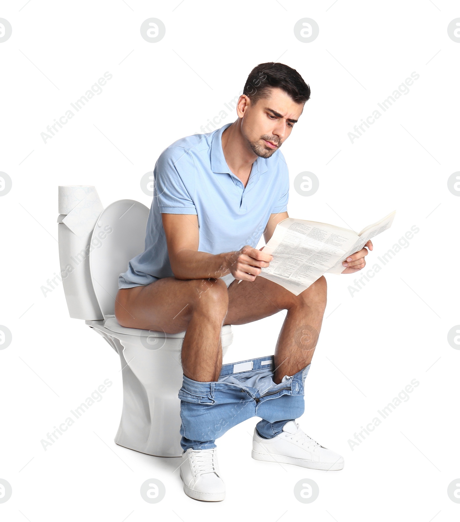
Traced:
[[277, 87], [270, 89], [269, 98], [244, 108], [241, 132], [252, 151], [261, 158], [270, 158], [292, 132], [295, 121], [304, 110], [304, 103], [294, 102]]

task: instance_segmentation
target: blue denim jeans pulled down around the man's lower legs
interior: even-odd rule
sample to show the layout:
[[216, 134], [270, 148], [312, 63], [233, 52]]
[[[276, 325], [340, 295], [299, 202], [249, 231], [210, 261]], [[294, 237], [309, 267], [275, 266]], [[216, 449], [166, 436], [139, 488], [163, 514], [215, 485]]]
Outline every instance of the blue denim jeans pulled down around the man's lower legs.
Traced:
[[304, 413], [304, 384], [310, 364], [280, 384], [273, 382], [274, 357], [224, 364], [217, 381], [193, 381], [184, 375], [179, 390], [180, 445], [186, 451], [215, 448], [216, 438], [251, 417], [256, 429], [272, 438], [289, 420]]

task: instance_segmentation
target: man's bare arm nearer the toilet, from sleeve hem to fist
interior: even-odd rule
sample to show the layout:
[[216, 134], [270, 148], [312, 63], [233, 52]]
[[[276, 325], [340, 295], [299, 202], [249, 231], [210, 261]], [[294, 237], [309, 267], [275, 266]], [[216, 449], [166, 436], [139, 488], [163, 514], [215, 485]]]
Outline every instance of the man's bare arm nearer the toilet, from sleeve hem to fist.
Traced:
[[218, 279], [231, 273], [236, 279], [253, 281], [260, 274], [260, 268], [269, 266], [273, 259], [249, 245], [222, 254], [198, 252], [200, 236], [196, 214], [162, 213], [161, 217], [176, 279]]

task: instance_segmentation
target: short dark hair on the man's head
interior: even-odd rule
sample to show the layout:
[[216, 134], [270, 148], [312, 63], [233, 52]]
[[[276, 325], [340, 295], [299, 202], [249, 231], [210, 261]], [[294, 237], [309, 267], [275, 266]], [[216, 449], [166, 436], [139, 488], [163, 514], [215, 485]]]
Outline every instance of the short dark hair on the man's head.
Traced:
[[243, 94], [249, 97], [251, 103], [256, 103], [260, 98], [268, 98], [272, 87], [283, 89], [296, 103], [305, 103], [310, 99], [310, 87], [299, 73], [279, 62], [254, 67], [246, 80]]

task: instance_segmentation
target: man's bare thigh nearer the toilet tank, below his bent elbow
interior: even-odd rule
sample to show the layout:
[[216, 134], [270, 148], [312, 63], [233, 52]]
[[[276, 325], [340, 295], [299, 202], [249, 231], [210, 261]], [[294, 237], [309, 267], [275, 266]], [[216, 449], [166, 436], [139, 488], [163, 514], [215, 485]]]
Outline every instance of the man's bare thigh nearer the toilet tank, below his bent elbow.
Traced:
[[115, 317], [127, 328], [177, 334], [187, 329], [191, 304], [209, 285], [207, 279], [164, 277], [145, 286], [122, 288], [115, 300]]

